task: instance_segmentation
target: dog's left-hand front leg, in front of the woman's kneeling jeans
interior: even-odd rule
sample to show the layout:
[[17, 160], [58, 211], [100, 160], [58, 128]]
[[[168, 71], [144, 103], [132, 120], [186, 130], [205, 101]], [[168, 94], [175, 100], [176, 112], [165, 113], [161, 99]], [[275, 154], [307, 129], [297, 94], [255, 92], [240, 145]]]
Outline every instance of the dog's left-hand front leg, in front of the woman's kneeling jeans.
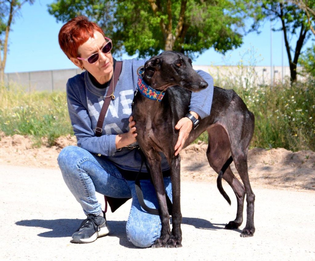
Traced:
[[159, 214], [162, 223], [160, 238], [158, 238], [153, 243], [152, 248], [165, 247], [171, 231], [169, 226], [169, 211], [167, 208], [165, 187], [161, 169], [161, 156], [154, 150], [151, 150], [149, 153], [145, 154], [150, 167], [153, 185], [157, 194]]

